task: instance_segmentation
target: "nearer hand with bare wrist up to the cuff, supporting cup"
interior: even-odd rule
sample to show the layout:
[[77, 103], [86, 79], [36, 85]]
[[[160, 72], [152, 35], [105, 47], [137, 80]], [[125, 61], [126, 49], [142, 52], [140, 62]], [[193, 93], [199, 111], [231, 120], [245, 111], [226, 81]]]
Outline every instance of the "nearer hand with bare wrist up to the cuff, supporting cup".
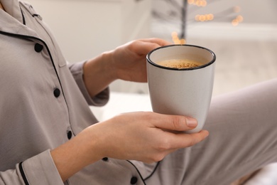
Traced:
[[51, 155], [65, 181], [83, 167], [103, 157], [161, 161], [176, 149], [190, 147], [207, 137], [208, 132], [185, 134], [197, 126], [195, 119], [154, 112], [118, 115], [84, 129], [76, 137], [53, 149]]

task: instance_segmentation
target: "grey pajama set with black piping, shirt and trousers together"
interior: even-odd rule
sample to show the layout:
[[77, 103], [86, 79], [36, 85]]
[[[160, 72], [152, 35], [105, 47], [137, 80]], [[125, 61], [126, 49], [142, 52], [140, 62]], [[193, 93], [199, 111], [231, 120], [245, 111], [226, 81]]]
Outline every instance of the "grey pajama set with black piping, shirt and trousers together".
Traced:
[[210, 136], [193, 147], [154, 164], [104, 158], [63, 182], [50, 149], [97, 122], [89, 105], [104, 105], [109, 89], [89, 97], [84, 62], [67, 64], [30, 4], [0, 1], [0, 184], [224, 185], [277, 162], [274, 79], [214, 97]]

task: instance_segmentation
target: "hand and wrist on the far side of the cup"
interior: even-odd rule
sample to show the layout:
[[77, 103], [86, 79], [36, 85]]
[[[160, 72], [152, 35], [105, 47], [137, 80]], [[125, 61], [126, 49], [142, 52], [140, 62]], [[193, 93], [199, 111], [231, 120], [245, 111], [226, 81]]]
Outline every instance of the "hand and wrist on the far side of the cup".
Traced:
[[160, 38], [141, 39], [87, 60], [83, 79], [89, 95], [94, 97], [117, 79], [146, 82], [147, 53], [168, 44], [170, 43]]

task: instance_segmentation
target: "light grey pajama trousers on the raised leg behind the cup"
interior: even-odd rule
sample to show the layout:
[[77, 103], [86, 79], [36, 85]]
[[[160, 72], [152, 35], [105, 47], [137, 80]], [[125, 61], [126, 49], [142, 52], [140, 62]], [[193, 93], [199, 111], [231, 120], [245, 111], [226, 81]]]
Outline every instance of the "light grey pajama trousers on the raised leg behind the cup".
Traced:
[[229, 185], [277, 162], [277, 79], [213, 97], [205, 129], [205, 141], [165, 157], [146, 184]]

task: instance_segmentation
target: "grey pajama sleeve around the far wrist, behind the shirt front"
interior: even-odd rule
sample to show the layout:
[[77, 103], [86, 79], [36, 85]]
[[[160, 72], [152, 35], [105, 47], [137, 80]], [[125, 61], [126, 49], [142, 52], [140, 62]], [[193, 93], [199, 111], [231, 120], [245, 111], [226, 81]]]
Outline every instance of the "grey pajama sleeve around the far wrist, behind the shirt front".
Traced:
[[85, 62], [86, 61], [67, 65], [73, 75], [73, 78], [75, 78], [75, 81], [80, 88], [82, 95], [85, 97], [85, 100], [87, 100], [87, 103], [94, 106], [103, 106], [109, 101], [109, 88], [104, 89], [101, 93], [95, 95], [94, 97], [89, 96], [87, 88], [85, 87], [84, 80], [82, 78], [84, 72], [83, 65]]

